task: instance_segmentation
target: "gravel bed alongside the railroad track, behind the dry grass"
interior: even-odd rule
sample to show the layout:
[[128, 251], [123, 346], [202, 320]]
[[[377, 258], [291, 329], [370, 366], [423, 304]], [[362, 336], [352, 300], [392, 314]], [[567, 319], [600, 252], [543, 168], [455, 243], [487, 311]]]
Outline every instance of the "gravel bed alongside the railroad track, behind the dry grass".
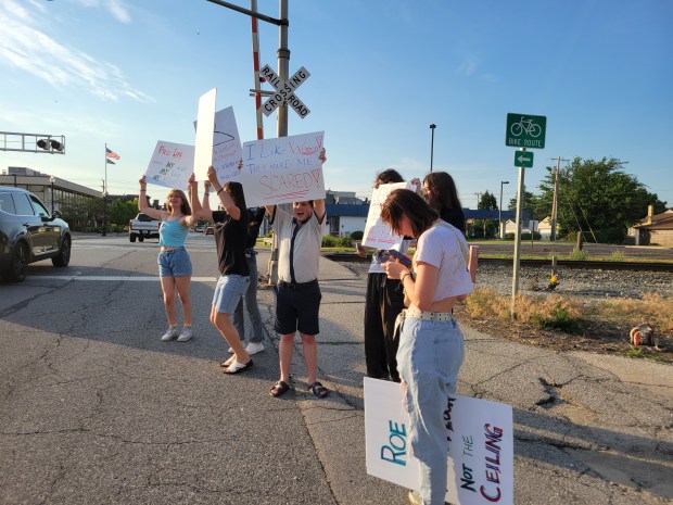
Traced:
[[[366, 276], [368, 263], [342, 262], [343, 266]], [[634, 298], [659, 293], [663, 298], [673, 296], [673, 273], [669, 272], [624, 272], [577, 269], [559, 267], [560, 283], [554, 290], [566, 296], [588, 299]], [[551, 268], [521, 266], [519, 290], [522, 294], [544, 291], [549, 283]], [[512, 267], [481, 264], [477, 270], [477, 286], [493, 289], [499, 294], [511, 294]]]

